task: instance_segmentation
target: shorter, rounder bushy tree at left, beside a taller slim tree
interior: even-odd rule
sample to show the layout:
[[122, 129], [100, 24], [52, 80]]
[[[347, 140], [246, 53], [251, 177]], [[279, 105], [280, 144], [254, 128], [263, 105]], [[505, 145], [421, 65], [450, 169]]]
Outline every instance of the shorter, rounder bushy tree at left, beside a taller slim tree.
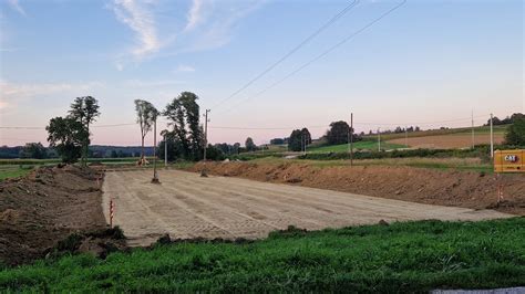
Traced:
[[54, 117], [45, 127], [49, 133], [48, 141], [54, 147], [63, 162], [76, 162], [82, 156], [84, 144], [89, 144], [89, 133], [85, 126], [72, 117]]

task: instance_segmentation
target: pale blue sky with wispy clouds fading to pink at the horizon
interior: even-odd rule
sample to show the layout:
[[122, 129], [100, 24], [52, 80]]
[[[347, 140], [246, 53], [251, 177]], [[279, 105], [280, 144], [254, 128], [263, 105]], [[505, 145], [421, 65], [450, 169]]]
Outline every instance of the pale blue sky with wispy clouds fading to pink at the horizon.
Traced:
[[318, 137], [350, 113], [368, 133], [524, 112], [523, 1], [408, 0], [379, 19], [402, 2], [0, 0], [0, 146], [47, 145], [87, 95], [92, 144], [120, 146], [141, 143], [134, 99], [163, 109], [184, 91], [210, 109], [210, 143]]

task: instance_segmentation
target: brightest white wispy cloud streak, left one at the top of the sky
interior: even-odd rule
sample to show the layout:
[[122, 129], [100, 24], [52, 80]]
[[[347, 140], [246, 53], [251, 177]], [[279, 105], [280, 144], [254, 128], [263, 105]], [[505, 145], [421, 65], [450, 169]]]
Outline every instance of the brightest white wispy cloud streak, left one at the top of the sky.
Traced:
[[116, 19], [132, 29], [137, 45], [132, 50], [138, 59], [161, 49], [155, 15], [151, 10], [152, 1], [115, 0], [113, 11]]

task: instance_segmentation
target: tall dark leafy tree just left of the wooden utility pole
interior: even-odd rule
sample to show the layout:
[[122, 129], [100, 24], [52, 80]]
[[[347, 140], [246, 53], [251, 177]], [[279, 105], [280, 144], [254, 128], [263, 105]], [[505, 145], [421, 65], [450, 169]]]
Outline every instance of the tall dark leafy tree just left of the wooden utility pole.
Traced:
[[183, 92], [174, 98], [163, 112], [171, 122], [169, 126], [181, 143], [183, 157], [199, 160], [203, 157], [203, 132], [199, 125], [198, 96]]

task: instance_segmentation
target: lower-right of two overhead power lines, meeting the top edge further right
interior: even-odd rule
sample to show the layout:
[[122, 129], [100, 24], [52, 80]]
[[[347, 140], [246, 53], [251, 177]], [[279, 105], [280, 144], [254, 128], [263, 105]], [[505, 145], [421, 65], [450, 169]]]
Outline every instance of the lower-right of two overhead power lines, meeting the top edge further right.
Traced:
[[341, 40], [340, 42], [336, 43], [334, 45], [332, 45], [331, 48], [329, 48], [328, 50], [323, 51], [321, 54], [317, 55], [316, 57], [313, 57], [312, 60], [308, 61], [307, 63], [302, 64], [301, 66], [299, 66], [297, 70], [292, 71], [291, 73], [289, 73], [288, 75], [286, 75], [285, 77], [282, 77], [281, 80], [270, 84], [269, 86], [267, 86], [266, 88], [264, 88], [262, 91], [258, 92], [257, 94], [255, 94], [254, 96], [250, 96], [250, 97], [247, 97], [245, 99], [241, 99], [239, 103], [237, 103], [236, 105], [234, 105], [233, 107], [230, 108], [227, 108], [226, 111], [224, 112], [219, 112], [219, 114], [223, 114], [223, 113], [227, 113], [231, 109], [234, 109], [235, 107], [237, 107], [238, 105], [240, 105], [241, 103], [245, 103], [249, 99], [253, 99], [253, 98], [256, 98], [260, 95], [262, 95], [264, 93], [266, 93], [268, 90], [277, 86], [278, 84], [285, 82], [286, 80], [290, 78], [291, 76], [294, 76], [295, 74], [297, 74], [298, 72], [302, 71], [303, 69], [306, 69], [307, 66], [309, 66], [310, 64], [312, 64], [313, 62], [320, 60], [321, 57], [323, 57], [325, 55], [327, 55], [328, 53], [332, 52], [333, 50], [336, 50], [337, 48], [341, 46], [342, 44], [347, 43], [348, 41], [352, 40], [354, 36], [357, 36], [358, 34], [362, 33], [363, 31], [366, 31], [367, 29], [369, 29], [370, 27], [372, 27], [373, 24], [375, 24], [377, 22], [379, 22], [380, 20], [382, 20], [383, 18], [385, 18], [387, 15], [389, 15], [390, 13], [394, 12], [395, 10], [398, 10], [399, 8], [401, 8], [404, 3], [406, 3], [406, 0], [403, 0], [401, 3], [397, 4], [395, 7], [391, 8], [390, 10], [388, 10], [387, 12], [384, 12], [383, 14], [381, 14], [379, 18], [374, 19], [373, 21], [369, 22], [367, 25], [362, 27], [361, 29], [354, 31], [353, 33], [351, 33], [350, 35], [348, 35], [347, 38], [344, 38], [343, 40]]

